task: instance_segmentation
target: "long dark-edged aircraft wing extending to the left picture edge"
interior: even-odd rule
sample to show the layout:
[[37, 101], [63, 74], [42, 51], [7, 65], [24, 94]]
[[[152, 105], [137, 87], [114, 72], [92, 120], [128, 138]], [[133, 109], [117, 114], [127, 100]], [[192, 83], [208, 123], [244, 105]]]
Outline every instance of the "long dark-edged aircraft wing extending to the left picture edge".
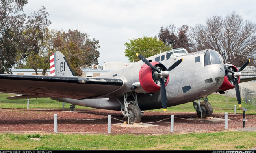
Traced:
[[85, 99], [100, 97], [118, 90], [123, 84], [124, 81], [120, 78], [0, 74], [0, 92], [17, 93], [22, 94], [23, 97], [34, 98]]

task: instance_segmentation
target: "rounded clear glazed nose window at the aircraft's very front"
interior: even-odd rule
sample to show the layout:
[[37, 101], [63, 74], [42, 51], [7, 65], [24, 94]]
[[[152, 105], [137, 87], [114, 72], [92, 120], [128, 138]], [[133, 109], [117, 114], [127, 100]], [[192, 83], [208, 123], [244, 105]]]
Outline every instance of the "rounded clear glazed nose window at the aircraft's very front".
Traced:
[[221, 58], [219, 56], [219, 53], [209, 49], [204, 54], [204, 66], [210, 64], [221, 64]]

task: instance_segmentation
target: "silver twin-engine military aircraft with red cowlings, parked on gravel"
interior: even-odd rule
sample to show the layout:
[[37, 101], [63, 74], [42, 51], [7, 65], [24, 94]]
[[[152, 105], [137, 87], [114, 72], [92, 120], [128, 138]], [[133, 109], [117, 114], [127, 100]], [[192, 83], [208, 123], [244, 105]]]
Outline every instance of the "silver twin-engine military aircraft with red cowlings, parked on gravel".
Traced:
[[232, 64], [224, 64], [221, 55], [206, 49], [188, 53], [184, 48], [172, 49], [144, 58], [124, 68], [98, 77], [74, 76], [63, 54], [50, 58], [50, 76], [0, 75], [0, 92], [17, 93], [7, 99], [50, 97], [76, 105], [120, 110], [129, 123], [141, 122], [145, 110], [193, 102], [198, 117], [211, 117], [213, 108], [207, 96], [236, 89], [239, 107], [239, 82], [255, 80], [242, 76]]

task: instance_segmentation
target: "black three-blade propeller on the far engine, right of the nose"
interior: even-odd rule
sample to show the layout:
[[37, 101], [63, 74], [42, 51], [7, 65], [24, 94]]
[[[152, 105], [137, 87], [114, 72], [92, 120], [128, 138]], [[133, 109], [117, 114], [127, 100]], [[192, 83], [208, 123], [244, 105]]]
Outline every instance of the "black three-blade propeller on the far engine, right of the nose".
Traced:
[[238, 105], [239, 107], [241, 107], [241, 95], [240, 95], [240, 90], [239, 90], [239, 85], [238, 85], [238, 79], [237, 77], [238, 76], [242, 76], [242, 73], [241, 71], [249, 64], [250, 62], [250, 59], [247, 60], [241, 67], [240, 69], [237, 71], [237, 72], [234, 72], [234, 71], [231, 71], [230, 69], [228, 69], [228, 67], [225, 67], [225, 69], [227, 71], [229, 71], [230, 73], [232, 73], [232, 76], [233, 76], [233, 79], [234, 79], [234, 82], [235, 82], [235, 90], [236, 90], [236, 98], [237, 98], [237, 102], [238, 102]]

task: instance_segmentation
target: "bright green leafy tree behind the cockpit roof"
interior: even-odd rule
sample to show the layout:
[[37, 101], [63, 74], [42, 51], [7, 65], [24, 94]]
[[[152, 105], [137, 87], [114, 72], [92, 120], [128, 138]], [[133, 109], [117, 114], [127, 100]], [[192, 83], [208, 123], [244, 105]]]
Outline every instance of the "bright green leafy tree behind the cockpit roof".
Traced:
[[136, 53], [139, 53], [143, 57], [148, 58], [150, 56], [159, 54], [160, 51], [165, 52], [172, 49], [171, 47], [166, 46], [156, 37], [153, 38], [144, 35], [143, 38], [129, 40], [130, 43], [125, 43], [126, 49], [124, 50], [124, 54], [130, 62], [137, 62], [140, 60], [136, 56]]

